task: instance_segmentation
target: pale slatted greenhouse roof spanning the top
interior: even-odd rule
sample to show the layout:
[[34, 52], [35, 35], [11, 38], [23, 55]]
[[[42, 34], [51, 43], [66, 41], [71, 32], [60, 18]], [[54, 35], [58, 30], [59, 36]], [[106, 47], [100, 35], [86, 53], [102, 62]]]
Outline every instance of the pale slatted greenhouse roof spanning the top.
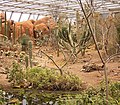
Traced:
[[[81, 7], [78, 0], [0, 0], [0, 10], [10, 12], [10, 18], [13, 13], [37, 15], [36, 20], [41, 15], [53, 15], [56, 17], [60, 13], [66, 14], [69, 18], [75, 18], [75, 11]], [[119, 12], [119, 0], [82, 0], [82, 2], [91, 4], [95, 11], [100, 13]], [[19, 21], [20, 19], [18, 19]]]

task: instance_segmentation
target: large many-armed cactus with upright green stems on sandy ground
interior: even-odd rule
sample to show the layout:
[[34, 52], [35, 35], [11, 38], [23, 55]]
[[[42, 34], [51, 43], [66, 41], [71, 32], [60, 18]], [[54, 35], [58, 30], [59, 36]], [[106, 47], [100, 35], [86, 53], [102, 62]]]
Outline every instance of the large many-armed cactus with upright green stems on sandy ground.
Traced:
[[67, 54], [72, 55], [74, 60], [80, 52], [82, 55], [85, 54], [86, 48], [90, 45], [88, 42], [90, 42], [91, 38], [87, 24], [82, 23], [84, 20], [81, 20], [78, 11], [76, 13], [76, 20], [76, 23], [72, 24], [67, 18], [59, 17], [56, 31], [59, 48], [65, 49]]

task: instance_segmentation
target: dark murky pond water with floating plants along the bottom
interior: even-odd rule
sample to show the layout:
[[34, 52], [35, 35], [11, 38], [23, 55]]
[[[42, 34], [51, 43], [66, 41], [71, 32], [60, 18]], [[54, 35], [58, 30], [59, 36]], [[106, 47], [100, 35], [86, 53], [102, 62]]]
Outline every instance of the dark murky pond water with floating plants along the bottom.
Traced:
[[[6, 105], [70, 105], [65, 104], [80, 92], [14, 89], [5, 92]], [[71, 104], [72, 105], [72, 104]]]

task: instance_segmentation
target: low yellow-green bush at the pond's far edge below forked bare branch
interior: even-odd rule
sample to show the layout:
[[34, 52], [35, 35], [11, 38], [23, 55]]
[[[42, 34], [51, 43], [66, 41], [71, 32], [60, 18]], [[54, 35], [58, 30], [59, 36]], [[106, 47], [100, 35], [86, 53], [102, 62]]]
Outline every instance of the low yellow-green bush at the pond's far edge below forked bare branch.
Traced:
[[80, 90], [81, 81], [72, 74], [60, 75], [53, 69], [32, 68], [27, 71], [27, 80], [35, 88], [45, 90]]

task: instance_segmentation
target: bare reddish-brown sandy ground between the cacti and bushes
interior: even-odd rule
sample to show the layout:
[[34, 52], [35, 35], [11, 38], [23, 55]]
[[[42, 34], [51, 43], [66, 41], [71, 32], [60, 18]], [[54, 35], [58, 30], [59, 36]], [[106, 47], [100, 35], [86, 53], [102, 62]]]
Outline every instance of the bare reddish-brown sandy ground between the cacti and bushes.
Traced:
[[[57, 57], [57, 53], [52, 47], [44, 46], [40, 48], [34, 48], [33, 50], [33, 62], [38, 63], [38, 66], [57, 68], [46, 55], [38, 53], [39, 49], [52, 57], [52, 59], [59, 67], [62, 67], [62, 65], [66, 62], [62, 53], [60, 53], [60, 56]], [[107, 63], [107, 75], [110, 81], [120, 81], [120, 57], [116, 58], [117, 59], [113, 59], [109, 63]], [[14, 60], [14, 57], [0, 56], [0, 85], [6, 89], [10, 87], [10, 83], [8, 82], [6, 73], [4, 73], [6, 72], [5, 68], [9, 68], [12, 65], [12, 61]], [[76, 74], [85, 84], [87, 84], [87, 86], [95, 87], [98, 86], [98, 84], [104, 79], [104, 71], [82, 71], [83, 65], [92, 63], [98, 66], [102, 65], [97, 51], [95, 51], [94, 49], [88, 49], [85, 56], [78, 55], [77, 61], [74, 64], [72, 63], [72, 61], [69, 61], [68, 64], [63, 68], [63, 70]]]

